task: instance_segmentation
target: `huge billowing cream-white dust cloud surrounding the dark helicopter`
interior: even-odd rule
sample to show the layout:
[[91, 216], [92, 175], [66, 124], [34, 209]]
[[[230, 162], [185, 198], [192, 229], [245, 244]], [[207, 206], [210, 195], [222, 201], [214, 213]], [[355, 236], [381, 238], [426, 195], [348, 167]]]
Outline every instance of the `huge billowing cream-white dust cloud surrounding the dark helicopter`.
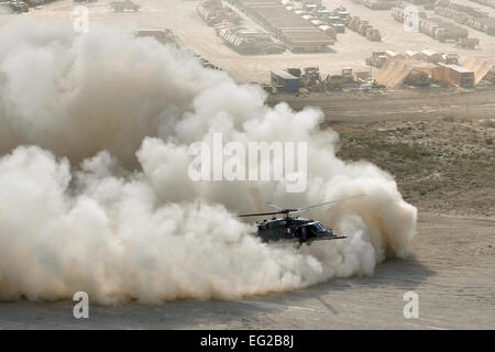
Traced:
[[[409, 253], [416, 208], [394, 178], [336, 156], [322, 113], [265, 105], [256, 86], [152, 38], [18, 22], [0, 35], [0, 299], [102, 304], [234, 299], [371, 275]], [[305, 141], [307, 191], [193, 182], [190, 143]], [[346, 240], [261, 243], [237, 213], [305, 206]]]

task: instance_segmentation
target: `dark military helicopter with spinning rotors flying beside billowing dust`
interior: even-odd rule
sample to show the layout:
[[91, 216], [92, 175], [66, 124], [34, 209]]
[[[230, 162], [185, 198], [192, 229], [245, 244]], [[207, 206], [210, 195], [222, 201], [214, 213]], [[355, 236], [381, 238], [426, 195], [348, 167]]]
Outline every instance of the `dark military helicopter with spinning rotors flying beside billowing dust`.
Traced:
[[266, 205], [268, 207], [277, 209], [277, 211], [244, 213], [240, 215], [239, 217], [246, 218], [272, 215], [274, 216], [278, 213], [284, 215], [283, 218], [274, 217], [271, 220], [265, 219], [263, 220], [263, 222], [256, 221], [257, 235], [262, 239], [263, 242], [289, 241], [294, 242], [294, 246], [296, 249], [299, 249], [304, 243], [310, 245], [314, 241], [346, 239], [346, 237], [337, 235], [333, 233], [332, 229], [324, 228], [320, 222], [311, 219], [300, 218], [298, 216], [293, 216], [294, 213], [305, 212], [312, 208], [364, 196], [365, 195], [352, 196], [297, 209], [283, 209], [282, 207], [267, 202]]

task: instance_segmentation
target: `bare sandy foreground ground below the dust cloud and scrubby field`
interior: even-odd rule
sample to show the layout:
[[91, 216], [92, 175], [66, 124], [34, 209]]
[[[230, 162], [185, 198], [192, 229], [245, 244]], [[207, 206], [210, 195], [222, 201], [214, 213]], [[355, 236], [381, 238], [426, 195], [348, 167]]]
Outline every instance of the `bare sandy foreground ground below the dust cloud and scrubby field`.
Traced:
[[[421, 215], [414, 256], [377, 266], [371, 277], [332, 279], [298, 292], [239, 301], [160, 306], [1, 302], [1, 329], [495, 329], [495, 219]], [[404, 294], [419, 296], [405, 319]]]

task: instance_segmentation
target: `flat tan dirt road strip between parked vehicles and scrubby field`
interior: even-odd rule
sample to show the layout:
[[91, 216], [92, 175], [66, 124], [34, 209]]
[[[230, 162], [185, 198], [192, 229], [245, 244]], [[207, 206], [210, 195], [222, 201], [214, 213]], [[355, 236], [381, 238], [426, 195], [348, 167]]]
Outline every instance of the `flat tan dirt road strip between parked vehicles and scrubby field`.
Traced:
[[326, 123], [370, 123], [442, 118], [494, 119], [495, 90], [409, 89], [405, 91], [327, 92], [271, 96], [271, 105], [286, 101], [296, 110], [319, 107]]

